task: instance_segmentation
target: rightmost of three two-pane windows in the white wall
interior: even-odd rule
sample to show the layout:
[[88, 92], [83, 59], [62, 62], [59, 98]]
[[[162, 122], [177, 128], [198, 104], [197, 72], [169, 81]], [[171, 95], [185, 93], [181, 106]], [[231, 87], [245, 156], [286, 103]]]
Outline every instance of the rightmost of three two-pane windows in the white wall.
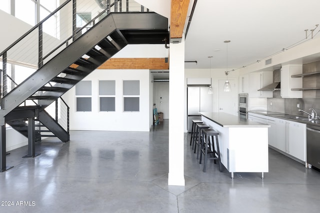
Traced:
[[123, 81], [123, 111], [138, 112], [140, 100], [140, 81]]

